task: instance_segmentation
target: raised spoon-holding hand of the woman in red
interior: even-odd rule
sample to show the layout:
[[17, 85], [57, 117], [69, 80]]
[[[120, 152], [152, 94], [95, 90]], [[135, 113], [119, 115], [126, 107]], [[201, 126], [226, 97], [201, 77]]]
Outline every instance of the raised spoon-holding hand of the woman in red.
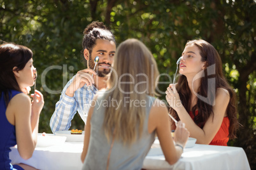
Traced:
[[177, 92], [174, 84], [169, 84], [169, 87], [166, 91], [166, 100], [169, 103], [169, 106], [176, 111], [182, 106], [180, 95]]

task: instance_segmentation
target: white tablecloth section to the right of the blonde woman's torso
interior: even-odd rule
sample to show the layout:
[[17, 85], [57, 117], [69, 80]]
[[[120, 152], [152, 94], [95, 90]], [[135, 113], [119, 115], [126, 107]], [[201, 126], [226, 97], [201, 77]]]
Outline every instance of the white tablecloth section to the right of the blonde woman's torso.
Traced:
[[164, 159], [160, 148], [152, 148], [143, 162], [145, 169], [191, 169], [191, 170], [220, 170], [220, 169], [250, 169], [243, 148], [222, 147], [215, 145], [196, 144], [185, 148], [180, 160], [170, 166]]

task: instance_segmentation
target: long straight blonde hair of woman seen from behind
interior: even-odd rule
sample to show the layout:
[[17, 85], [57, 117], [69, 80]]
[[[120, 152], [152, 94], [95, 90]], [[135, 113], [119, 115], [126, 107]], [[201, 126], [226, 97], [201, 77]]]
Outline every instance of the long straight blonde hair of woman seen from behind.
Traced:
[[108, 141], [113, 133], [124, 144], [131, 144], [141, 137], [146, 107], [132, 105], [132, 102], [145, 101], [146, 95], [155, 95], [158, 75], [157, 63], [143, 42], [127, 39], [118, 46], [105, 100], [121, 101], [121, 104], [119, 107], [110, 104], [106, 108], [103, 129]]

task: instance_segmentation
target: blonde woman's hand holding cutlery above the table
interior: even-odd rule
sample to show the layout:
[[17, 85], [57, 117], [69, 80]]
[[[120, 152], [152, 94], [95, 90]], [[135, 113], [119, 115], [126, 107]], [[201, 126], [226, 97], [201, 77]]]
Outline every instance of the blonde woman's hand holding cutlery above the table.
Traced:
[[185, 128], [185, 124], [181, 121], [176, 123], [176, 129], [174, 132], [174, 141], [176, 144], [185, 147], [189, 136], [189, 131]]

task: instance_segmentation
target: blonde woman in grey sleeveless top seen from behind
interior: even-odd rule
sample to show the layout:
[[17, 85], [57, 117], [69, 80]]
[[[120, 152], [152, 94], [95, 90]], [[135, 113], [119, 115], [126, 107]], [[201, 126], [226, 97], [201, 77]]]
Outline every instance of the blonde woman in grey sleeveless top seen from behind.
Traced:
[[159, 71], [152, 53], [137, 39], [127, 39], [114, 61], [107, 90], [97, 93], [89, 110], [83, 169], [141, 169], [155, 134], [174, 164], [189, 133], [178, 122], [174, 145], [166, 105], [153, 97]]

